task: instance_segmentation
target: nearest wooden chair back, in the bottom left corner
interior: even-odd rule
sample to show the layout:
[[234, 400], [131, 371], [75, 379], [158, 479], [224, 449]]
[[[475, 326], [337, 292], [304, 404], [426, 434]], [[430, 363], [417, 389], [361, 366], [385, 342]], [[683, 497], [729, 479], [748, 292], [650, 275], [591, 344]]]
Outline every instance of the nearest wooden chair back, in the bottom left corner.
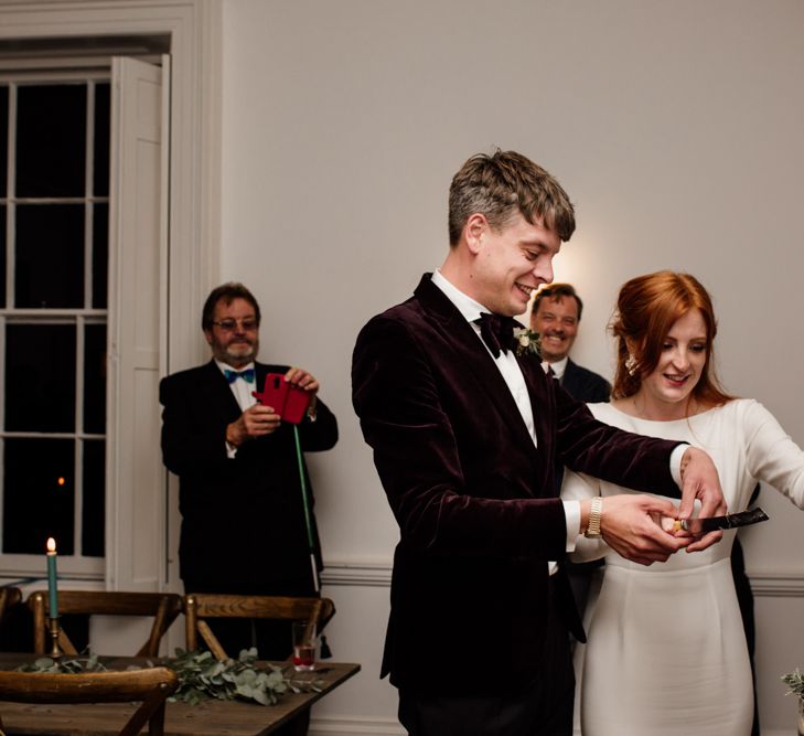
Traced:
[[[178, 686], [176, 673], [163, 666], [78, 674], [0, 672], [0, 701], [45, 704], [141, 702], [119, 736], [135, 736], [146, 724], [149, 724], [149, 736], [164, 736], [164, 700]], [[0, 734], [4, 734], [2, 721]]]

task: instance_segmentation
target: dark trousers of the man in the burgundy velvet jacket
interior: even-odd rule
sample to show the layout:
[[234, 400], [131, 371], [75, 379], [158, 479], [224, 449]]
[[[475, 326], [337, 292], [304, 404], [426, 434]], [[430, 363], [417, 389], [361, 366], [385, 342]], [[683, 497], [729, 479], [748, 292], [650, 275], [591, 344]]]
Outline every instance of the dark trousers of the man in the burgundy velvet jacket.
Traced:
[[[524, 691], [493, 696], [400, 690], [399, 723], [410, 736], [571, 736], [575, 674], [555, 588], [550, 582], [545, 651], [534, 662], [533, 682]], [[449, 676], [447, 661], [443, 678]], [[478, 679], [490, 676], [505, 681], [505, 672], [479, 661]]]

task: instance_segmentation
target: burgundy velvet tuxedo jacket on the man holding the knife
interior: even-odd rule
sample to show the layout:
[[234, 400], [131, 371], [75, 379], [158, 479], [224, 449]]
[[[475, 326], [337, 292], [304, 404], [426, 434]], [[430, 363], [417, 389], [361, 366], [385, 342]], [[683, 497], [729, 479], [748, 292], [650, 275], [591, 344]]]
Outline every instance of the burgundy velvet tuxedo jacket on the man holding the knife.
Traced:
[[547, 562], [566, 553], [557, 457], [679, 495], [669, 472], [677, 442], [601, 424], [533, 356], [518, 363], [538, 447], [480, 338], [429, 275], [357, 338], [353, 404], [400, 530], [380, 674], [398, 687], [471, 695], [533, 681]]

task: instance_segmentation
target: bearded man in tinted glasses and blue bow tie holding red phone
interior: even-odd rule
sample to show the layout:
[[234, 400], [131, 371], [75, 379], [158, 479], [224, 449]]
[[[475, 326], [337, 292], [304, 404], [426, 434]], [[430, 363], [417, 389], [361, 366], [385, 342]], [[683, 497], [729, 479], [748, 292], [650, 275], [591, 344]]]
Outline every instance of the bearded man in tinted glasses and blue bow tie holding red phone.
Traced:
[[[266, 374], [281, 373], [312, 394], [298, 425], [301, 448], [337, 441], [334, 415], [307, 371], [257, 363], [260, 310], [242, 284], [208, 296], [202, 316], [213, 360], [163, 378], [159, 387], [164, 465], [179, 476], [180, 575], [186, 593], [318, 595], [304, 519], [293, 426], [257, 404]], [[310, 482], [303, 457], [308, 493]], [[310, 494], [310, 500], [312, 495]], [[318, 572], [321, 550], [311, 514]], [[231, 657], [256, 646], [260, 659], [292, 650], [290, 629], [272, 621], [219, 619], [212, 629]]]

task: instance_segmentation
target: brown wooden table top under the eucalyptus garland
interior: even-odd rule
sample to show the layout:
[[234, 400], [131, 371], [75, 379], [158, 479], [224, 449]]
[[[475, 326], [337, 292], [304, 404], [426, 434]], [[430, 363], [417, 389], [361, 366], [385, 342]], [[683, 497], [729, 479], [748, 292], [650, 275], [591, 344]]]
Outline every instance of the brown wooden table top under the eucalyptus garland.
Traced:
[[[25, 661], [31, 661], [31, 654], [0, 653], [0, 669], [3, 670], [14, 669]], [[108, 666], [125, 669], [131, 661], [130, 658], [115, 658]], [[299, 675], [294, 680], [310, 678], [321, 681], [321, 692], [288, 693], [277, 705], [245, 701], [204, 701], [200, 705], [168, 703], [164, 736], [265, 736], [310, 707], [360, 669], [360, 664], [321, 662], [317, 671], [294, 673]], [[136, 708], [137, 705], [128, 703], [32, 705], [0, 702], [0, 716], [8, 736], [118, 736]]]

